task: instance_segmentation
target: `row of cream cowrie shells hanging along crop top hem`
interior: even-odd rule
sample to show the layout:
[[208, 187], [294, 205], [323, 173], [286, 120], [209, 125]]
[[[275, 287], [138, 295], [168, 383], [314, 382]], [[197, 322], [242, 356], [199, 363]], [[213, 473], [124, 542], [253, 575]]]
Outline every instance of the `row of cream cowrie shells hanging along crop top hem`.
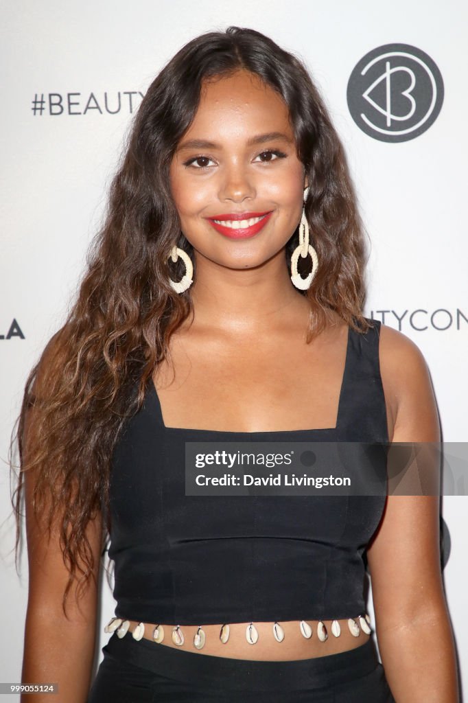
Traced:
[[[129, 620], [124, 620], [119, 617], [113, 617], [108, 624], [104, 628], [105, 633], [116, 633], [117, 637], [122, 639], [126, 635], [126, 633], [129, 631], [130, 627], [130, 621]], [[370, 628], [370, 617], [368, 616], [367, 613], [364, 615], [358, 615], [356, 618], [349, 618], [348, 619], [348, 628], [349, 631], [351, 632], [351, 635], [353, 637], [358, 637], [360, 631], [362, 630], [366, 635], [370, 635], [371, 633], [371, 628]], [[299, 622], [299, 629], [301, 631], [301, 635], [306, 638], [306, 640], [310, 639], [312, 637], [313, 630], [311, 626], [306, 622], [305, 620], [301, 620]], [[334, 637], [339, 637], [341, 634], [341, 626], [337, 620], [332, 621], [332, 625], [330, 627], [332, 631], [332, 635]], [[135, 628], [132, 633], [132, 637], [134, 640], [141, 640], [145, 633], [145, 624], [143, 622], [139, 623]], [[282, 642], [285, 638], [285, 631], [283, 628], [280, 626], [278, 622], [273, 623], [273, 637], [277, 642]], [[325, 627], [325, 623], [323, 623], [322, 620], [318, 621], [317, 624], [317, 637], [320, 640], [320, 642], [325, 642], [325, 640], [328, 639], [328, 633], [327, 633], [327, 628]], [[162, 642], [164, 640], [164, 627], [162, 625], [156, 625], [155, 628], [152, 631], [152, 638], [155, 640], [155, 642]], [[247, 639], [247, 642], [251, 645], [254, 645], [256, 641], [259, 639], [259, 633], [254, 626], [254, 624], [251, 622], [247, 625], [247, 628], [245, 630], [245, 638]], [[172, 633], [171, 633], [171, 639], [174, 642], [174, 645], [183, 645], [185, 642], [185, 638], [183, 636], [183, 631], [181, 629], [180, 625], [176, 625], [175, 627], [172, 628]], [[219, 639], [223, 644], [226, 644], [226, 642], [229, 639], [229, 625], [224, 624], [221, 627], [221, 631], [219, 632]], [[197, 632], [195, 633], [195, 636], [193, 638], [193, 645], [197, 648], [197, 650], [201, 650], [202, 647], [204, 647], [204, 643], [206, 641], [206, 636], [204, 633], [204, 630], [202, 629], [202, 626], [200, 625], [197, 629]]]

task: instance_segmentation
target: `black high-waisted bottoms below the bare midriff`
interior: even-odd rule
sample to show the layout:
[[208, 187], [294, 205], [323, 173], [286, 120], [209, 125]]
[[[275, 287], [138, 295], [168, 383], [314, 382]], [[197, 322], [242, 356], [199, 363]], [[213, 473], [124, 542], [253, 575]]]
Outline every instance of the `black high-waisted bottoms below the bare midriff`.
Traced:
[[294, 661], [214, 657], [112, 635], [87, 703], [395, 703], [370, 638]]

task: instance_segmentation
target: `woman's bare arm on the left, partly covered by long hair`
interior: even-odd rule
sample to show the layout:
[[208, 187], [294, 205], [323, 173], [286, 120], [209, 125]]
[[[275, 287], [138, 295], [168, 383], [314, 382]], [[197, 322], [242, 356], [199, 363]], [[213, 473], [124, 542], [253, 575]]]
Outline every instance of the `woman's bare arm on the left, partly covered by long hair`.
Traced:
[[[44, 356], [43, 361], [45, 361]], [[40, 389], [40, 373], [34, 383]], [[28, 442], [34, 437], [34, 406], [28, 409], [23, 434], [23, 455], [27, 458]], [[60, 517], [53, 524], [51, 535], [44, 529], [40, 516], [32, 510], [34, 469], [26, 471], [25, 508], [29, 593], [25, 624], [25, 645], [22, 662], [22, 683], [56, 683], [58, 696], [34, 694], [34, 703], [86, 703], [91, 683], [96, 642], [97, 586], [101, 553], [100, 513], [89, 522], [87, 535], [93, 552], [94, 578], [86, 591], [75, 598], [76, 581], [67, 598], [67, 617], [62, 598], [69, 572], [63, 561], [59, 543]], [[30, 701], [23, 695], [21, 703]]]

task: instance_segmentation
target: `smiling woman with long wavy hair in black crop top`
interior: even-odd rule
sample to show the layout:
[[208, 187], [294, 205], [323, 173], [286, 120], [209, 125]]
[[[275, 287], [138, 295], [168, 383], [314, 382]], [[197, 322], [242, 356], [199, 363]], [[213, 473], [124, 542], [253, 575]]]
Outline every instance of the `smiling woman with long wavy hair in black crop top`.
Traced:
[[[253, 30], [190, 41], [27, 382], [23, 681], [67, 703], [455, 701], [437, 498], [185, 494], [193, 441], [439, 440], [419, 349], [362, 314], [364, 258], [304, 65]], [[107, 532], [117, 608], [89, 692]]]

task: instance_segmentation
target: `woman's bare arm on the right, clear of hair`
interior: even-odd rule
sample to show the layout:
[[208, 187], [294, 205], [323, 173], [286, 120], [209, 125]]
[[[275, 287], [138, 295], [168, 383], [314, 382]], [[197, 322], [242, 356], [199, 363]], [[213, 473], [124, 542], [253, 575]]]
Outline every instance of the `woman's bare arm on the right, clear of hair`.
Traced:
[[[438, 447], [436, 401], [420, 349], [382, 325], [380, 368], [394, 408], [392, 441], [418, 443], [423, 451], [429, 446], [424, 443]], [[437, 472], [440, 466], [426, 468]], [[399, 492], [388, 496], [367, 552], [386, 679], [396, 703], [458, 703], [455, 645], [441, 573], [440, 498]]]

